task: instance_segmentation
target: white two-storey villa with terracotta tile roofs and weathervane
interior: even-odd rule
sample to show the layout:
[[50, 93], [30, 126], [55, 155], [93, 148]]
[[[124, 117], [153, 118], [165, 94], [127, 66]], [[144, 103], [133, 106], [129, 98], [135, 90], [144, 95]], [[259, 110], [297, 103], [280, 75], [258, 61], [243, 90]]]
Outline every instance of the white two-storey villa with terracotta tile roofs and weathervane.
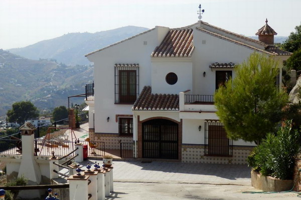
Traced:
[[245, 164], [255, 145], [227, 138], [214, 106], [216, 89], [252, 52], [282, 63], [290, 55], [273, 45], [266, 23], [259, 40], [204, 21], [181, 28], [156, 26], [86, 55], [94, 62], [89, 137], [133, 157], [201, 163]]

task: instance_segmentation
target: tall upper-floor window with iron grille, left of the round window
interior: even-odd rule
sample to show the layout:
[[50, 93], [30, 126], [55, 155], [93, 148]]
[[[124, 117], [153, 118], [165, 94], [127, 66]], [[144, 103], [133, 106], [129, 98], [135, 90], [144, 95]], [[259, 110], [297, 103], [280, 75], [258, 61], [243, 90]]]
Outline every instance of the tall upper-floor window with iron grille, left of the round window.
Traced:
[[133, 104], [139, 94], [139, 64], [115, 64], [115, 103]]

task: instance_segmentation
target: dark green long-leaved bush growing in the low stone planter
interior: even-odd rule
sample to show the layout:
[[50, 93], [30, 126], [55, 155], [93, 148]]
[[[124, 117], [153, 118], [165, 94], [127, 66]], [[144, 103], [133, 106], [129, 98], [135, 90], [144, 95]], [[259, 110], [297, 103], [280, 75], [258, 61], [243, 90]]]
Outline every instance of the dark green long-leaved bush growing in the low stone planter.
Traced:
[[291, 120], [285, 121], [276, 134], [268, 133], [248, 156], [248, 163], [262, 175], [292, 179], [294, 158], [299, 153], [299, 132], [291, 129]]

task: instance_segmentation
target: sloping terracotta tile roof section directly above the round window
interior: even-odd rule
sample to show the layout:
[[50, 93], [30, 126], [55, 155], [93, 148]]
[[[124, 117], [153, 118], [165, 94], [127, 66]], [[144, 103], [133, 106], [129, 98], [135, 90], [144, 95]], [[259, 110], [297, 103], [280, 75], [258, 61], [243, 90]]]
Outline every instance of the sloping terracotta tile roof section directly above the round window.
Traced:
[[171, 29], [150, 56], [187, 57], [191, 56], [193, 49], [192, 29]]

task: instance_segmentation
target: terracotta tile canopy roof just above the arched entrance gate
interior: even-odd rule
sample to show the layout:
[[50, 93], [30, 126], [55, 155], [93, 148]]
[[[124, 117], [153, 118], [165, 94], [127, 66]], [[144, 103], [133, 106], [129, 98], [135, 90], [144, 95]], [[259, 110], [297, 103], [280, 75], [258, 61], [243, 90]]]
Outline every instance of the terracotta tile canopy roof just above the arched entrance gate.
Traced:
[[152, 87], [144, 86], [132, 110], [179, 110], [179, 95], [153, 94]]

